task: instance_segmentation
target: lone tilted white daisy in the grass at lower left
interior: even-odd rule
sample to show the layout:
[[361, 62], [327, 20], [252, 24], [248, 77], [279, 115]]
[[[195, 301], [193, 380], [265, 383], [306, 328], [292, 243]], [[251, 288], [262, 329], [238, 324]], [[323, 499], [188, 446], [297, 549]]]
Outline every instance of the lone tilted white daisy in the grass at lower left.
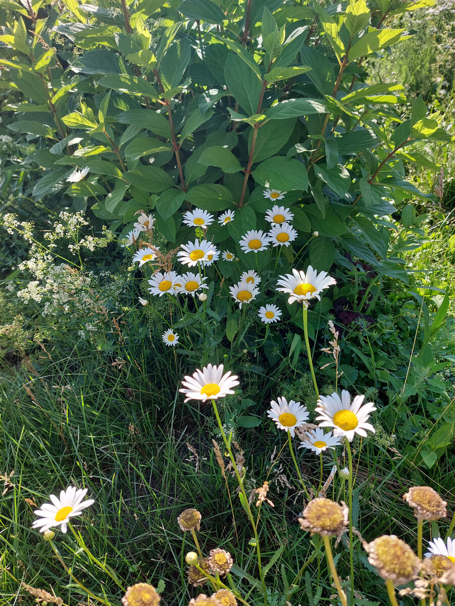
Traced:
[[55, 494], [51, 494], [49, 498], [52, 504], [45, 503], [41, 505], [41, 509], [35, 510], [35, 514], [39, 519], [33, 522], [32, 528], [39, 528], [40, 532], [44, 532], [60, 525], [61, 531], [65, 533], [70, 518], [80, 516], [82, 510], [95, 503], [93, 499], [87, 499], [87, 501], [82, 503], [87, 490], [88, 488], [78, 490], [75, 486], [68, 486], [66, 490], [60, 491], [60, 498], [56, 497]]

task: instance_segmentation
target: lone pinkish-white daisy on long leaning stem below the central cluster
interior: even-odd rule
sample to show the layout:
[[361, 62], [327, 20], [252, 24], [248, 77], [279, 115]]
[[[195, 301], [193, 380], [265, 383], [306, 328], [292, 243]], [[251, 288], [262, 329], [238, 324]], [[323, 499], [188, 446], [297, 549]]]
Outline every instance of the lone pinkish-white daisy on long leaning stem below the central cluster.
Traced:
[[233, 387], [239, 385], [236, 375], [231, 375], [229, 370], [223, 375], [224, 366], [212, 366], [208, 364], [202, 370], [196, 370], [192, 376], [185, 376], [179, 391], [185, 394], [185, 402], [188, 400], [201, 400], [225, 398], [233, 395]]

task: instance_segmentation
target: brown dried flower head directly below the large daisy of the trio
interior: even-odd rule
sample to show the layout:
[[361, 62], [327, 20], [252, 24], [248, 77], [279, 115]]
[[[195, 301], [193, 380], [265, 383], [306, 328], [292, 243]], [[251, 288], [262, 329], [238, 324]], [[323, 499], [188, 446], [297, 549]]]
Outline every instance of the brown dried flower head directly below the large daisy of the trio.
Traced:
[[299, 518], [302, 530], [321, 536], [335, 536], [344, 532], [348, 524], [348, 507], [344, 501], [341, 505], [330, 499], [317, 498], [310, 501]]

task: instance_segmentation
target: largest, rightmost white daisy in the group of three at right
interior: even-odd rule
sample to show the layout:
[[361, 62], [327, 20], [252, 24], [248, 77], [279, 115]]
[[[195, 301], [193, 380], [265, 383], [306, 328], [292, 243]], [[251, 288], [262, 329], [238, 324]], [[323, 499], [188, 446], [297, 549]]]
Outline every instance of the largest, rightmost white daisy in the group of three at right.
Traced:
[[367, 437], [367, 431], [375, 429], [371, 423], [367, 423], [371, 413], [376, 410], [373, 402], [367, 402], [362, 406], [365, 396], [355, 396], [351, 404], [349, 391], [342, 390], [341, 398], [334, 392], [331, 396], [320, 396], [317, 407], [314, 409], [320, 413], [316, 417], [319, 427], [334, 427], [333, 435], [336, 438], [345, 436], [348, 442], [352, 442], [354, 434]]

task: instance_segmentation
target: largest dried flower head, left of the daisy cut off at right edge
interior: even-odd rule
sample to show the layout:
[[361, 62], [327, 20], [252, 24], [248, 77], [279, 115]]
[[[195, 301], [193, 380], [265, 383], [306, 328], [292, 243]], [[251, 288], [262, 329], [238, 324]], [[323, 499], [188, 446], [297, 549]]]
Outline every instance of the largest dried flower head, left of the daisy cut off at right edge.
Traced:
[[364, 544], [368, 562], [377, 574], [394, 585], [405, 585], [419, 572], [422, 565], [414, 551], [394, 534], [384, 534], [371, 543]]

